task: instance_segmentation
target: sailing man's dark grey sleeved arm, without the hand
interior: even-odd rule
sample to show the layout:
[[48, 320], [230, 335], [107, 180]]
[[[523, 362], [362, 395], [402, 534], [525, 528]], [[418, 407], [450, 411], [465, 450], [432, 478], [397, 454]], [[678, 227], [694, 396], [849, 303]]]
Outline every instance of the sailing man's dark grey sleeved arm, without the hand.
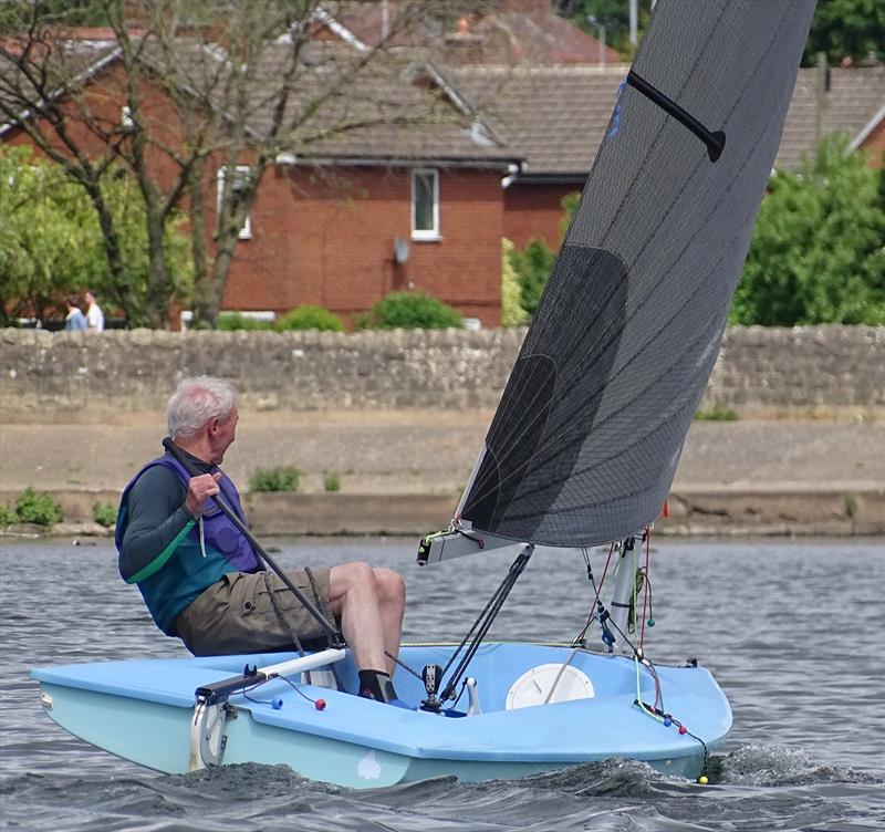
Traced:
[[162, 465], [148, 468], [132, 487], [119, 553], [126, 583], [153, 575], [190, 531], [196, 520], [185, 508], [186, 496], [181, 480]]

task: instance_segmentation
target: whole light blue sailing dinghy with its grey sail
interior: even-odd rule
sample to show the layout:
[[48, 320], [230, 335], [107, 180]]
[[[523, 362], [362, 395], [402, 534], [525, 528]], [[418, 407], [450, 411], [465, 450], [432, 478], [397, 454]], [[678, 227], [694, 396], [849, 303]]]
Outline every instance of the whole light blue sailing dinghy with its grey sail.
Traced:
[[[332, 644], [35, 669], [49, 716], [164, 772], [287, 763], [364, 788], [621, 757], [702, 778], [730, 707], [696, 662], [650, 659], [644, 559], [719, 351], [813, 8], [656, 3], [454, 519], [418, 553], [429, 564], [512, 548], [516, 560], [460, 644], [403, 646], [395, 682], [409, 707], [355, 696], [346, 645]], [[563, 644], [488, 642], [542, 547], [575, 550], [591, 579], [586, 626]], [[598, 583], [597, 547], [610, 553]]]

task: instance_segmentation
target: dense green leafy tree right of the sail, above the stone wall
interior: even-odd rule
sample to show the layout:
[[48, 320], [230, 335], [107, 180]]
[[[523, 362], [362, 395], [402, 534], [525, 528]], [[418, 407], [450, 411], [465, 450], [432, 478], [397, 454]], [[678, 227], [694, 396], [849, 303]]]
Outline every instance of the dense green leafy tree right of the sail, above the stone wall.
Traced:
[[830, 136], [769, 183], [729, 322], [885, 323], [883, 174]]

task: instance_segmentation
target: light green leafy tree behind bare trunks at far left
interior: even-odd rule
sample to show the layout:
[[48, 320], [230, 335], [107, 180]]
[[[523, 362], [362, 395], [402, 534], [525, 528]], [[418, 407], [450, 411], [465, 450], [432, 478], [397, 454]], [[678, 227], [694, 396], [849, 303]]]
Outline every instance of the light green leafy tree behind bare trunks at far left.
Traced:
[[[114, 174], [119, 173], [116, 169]], [[98, 218], [86, 191], [55, 164], [28, 147], [0, 145], [0, 321], [42, 316], [63, 309], [65, 294], [95, 289], [106, 308], [123, 311], [131, 324], [144, 320], [148, 263], [144, 206], [133, 183], [110, 175], [104, 201], [121, 237], [122, 273], [112, 273]], [[164, 247], [177, 297], [190, 292], [192, 270], [187, 236], [166, 230]], [[135, 305], [126, 306], [131, 302]]]

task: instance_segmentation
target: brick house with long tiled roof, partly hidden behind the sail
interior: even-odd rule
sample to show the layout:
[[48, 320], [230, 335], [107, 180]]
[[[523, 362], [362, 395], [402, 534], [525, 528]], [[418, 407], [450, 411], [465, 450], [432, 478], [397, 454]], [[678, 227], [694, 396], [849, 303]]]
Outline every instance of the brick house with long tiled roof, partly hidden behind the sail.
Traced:
[[[504, 235], [559, 247], [562, 199], [580, 193], [608, 126], [623, 66], [462, 66], [449, 77], [522, 159], [506, 180]], [[879, 166], [885, 150], [885, 66], [799, 71], [775, 166], [794, 168], [818, 138], [847, 134]]]

